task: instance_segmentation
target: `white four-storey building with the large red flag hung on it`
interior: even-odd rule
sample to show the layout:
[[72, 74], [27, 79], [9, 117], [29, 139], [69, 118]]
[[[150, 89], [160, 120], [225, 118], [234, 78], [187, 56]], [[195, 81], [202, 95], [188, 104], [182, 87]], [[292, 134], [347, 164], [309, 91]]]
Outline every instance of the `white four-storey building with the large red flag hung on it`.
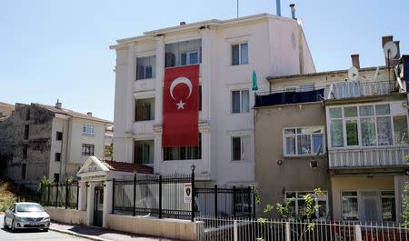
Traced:
[[[314, 73], [297, 20], [261, 14], [208, 20], [117, 40], [114, 160], [217, 184], [254, 182], [254, 91], [267, 76]], [[163, 148], [165, 68], [200, 64], [199, 147]]]

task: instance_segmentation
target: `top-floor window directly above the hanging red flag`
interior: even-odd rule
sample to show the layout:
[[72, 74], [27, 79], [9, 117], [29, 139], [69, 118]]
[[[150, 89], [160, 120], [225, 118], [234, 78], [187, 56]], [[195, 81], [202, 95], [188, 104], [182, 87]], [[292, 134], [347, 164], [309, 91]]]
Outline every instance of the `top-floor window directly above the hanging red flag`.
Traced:
[[165, 67], [202, 63], [202, 40], [195, 39], [165, 45]]

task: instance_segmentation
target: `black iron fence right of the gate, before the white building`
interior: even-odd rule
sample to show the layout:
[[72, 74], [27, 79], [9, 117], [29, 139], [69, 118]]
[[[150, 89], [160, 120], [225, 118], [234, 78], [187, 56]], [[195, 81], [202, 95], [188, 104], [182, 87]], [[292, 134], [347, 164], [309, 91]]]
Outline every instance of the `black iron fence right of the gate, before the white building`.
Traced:
[[[185, 200], [186, 186], [191, 186], [193, 202]], [[254, 197], [250, 187], [234, 186], [229, 189], [205, 186], [203, 181], [195, 182], [195, 176], [134, 176], [133, 180], [115, 179], [113, 213], [192, 221], [195, 216], [254, 216]]]

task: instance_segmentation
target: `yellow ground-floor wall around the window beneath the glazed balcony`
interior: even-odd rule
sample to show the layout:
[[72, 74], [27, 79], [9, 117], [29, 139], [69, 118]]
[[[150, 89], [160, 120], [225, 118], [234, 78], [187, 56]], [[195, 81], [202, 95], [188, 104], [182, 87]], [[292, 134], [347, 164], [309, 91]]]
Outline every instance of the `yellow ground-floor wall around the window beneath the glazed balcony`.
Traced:
[[394, 176], [354, 176], [332, 177], [331, 187], [333, 193], [333, 218], [342, 220], [341, 192], [344, 190], [379, 189], [394, 190]]

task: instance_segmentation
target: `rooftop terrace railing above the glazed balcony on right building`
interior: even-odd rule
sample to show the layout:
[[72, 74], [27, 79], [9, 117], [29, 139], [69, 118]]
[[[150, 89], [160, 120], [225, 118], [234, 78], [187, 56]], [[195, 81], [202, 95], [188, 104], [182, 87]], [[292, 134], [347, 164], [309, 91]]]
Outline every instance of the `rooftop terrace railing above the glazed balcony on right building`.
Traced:
[[382, 82], [345, 82], [325, 86], [325, 99], [344, 99], [373, 95], [388, 95], [394, 90], [394, 84]]

